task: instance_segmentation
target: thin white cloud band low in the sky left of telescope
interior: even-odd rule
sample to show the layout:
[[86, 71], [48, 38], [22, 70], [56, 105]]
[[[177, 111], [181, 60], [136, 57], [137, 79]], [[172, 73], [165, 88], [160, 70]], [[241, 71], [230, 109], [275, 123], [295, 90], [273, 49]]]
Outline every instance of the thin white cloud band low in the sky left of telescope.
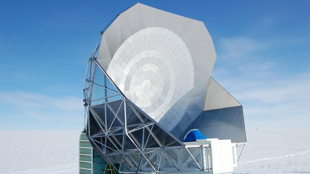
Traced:
[[[38, 120], [80, 119], [84, 107], [81, 98], [73, 96], [47, 96], [22, 91], [0, 92], [0, 104], [10, 109], [10, 116]], [[1, 111], [6, 114], [6, 111]], [[68, 122], [69, 123], [69, 122]]]

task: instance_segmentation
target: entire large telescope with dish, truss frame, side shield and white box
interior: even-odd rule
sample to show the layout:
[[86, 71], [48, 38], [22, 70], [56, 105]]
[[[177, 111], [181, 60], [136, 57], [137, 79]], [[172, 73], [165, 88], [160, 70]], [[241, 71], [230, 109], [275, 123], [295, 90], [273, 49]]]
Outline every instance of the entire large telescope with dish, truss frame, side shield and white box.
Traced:
[[[87, 63], [91, 147], [122, 173], [231, 172], [243, 110], [210, 77], [215, 59], [201, 21], [140, 3], [118, 14]], [[195, 129], [201, 141], [187, 138]]]

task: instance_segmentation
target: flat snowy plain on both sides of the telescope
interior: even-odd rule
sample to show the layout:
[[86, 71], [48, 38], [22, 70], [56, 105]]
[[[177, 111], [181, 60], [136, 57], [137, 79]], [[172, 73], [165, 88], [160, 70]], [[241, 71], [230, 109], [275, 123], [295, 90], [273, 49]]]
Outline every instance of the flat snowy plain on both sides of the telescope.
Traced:
[[[0, 174], [78, 174], [80, 132], [0, 131]], [[310, 173], [310, 128], [247, 129], [246, 135], [234, 173]]]

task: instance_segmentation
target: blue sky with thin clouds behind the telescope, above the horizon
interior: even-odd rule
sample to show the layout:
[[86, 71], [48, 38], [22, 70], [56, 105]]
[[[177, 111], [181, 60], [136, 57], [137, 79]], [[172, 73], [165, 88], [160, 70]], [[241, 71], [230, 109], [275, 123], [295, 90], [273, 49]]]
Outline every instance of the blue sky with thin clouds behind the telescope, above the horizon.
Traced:
[[[1, 1], [0, 130], [82, 129], [99, 31], [136, 1]], [[246, 128], [310, 126], [310, 1], [140, 1], [201, 20]]]

